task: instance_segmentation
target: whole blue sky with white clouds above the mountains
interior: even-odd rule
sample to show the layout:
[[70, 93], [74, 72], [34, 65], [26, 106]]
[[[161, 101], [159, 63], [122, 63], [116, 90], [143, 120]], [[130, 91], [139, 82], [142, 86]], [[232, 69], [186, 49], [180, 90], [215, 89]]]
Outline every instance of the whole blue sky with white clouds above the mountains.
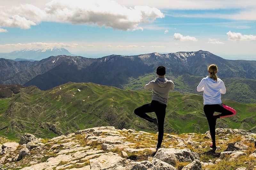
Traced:
[[205, 50], [256, 60], [255, 0], [1, 0], [0, 53], [85, 57]]

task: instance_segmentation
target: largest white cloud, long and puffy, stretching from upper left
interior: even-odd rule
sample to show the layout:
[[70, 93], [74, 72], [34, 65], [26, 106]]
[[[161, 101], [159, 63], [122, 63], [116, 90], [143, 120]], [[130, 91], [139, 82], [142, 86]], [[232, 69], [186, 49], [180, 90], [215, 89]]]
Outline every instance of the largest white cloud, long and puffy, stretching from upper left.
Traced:
[[112, 0], [52, 0], [43, 10], [34, 5], [0, 7], [0, 26], [29, 29], [42, 21], [65, 22], [111, 27], [124, 31], [143, 28], [164, 14], [157, 8], [134, 6], [127, 8]]

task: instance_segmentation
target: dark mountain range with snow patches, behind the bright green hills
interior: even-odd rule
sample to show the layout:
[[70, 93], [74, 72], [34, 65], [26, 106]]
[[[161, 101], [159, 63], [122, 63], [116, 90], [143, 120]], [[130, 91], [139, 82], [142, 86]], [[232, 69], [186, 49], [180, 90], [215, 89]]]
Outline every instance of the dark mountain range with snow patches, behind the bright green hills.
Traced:
[[0, 59], [0, 84], [35, 85], [48, 90], [71, 81], [142, 90], [156, 78], [157, 66], [164, 65], [166, 77], [174, 81], [175, 90], [197, 93], [196, 86], [208, 74], [207, 66], [212, 63], [218, 65], [218, 76], [227, 87], [223, 98], [256, 102], [256, 61], [226, 60], [202, 50], [102, 58], [59, 55], [35, 62]]

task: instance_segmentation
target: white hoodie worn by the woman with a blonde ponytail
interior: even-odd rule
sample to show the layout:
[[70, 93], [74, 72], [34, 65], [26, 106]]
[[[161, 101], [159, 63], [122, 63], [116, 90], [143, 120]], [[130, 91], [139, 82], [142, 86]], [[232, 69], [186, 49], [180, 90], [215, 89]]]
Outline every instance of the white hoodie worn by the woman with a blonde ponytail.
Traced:
[[206, 76], [197, 86], [197, 92], [204, 91], [204, 105], [221, 104], [221, 94], [226, 93], [223, 81], [218, 78], [217, 82]]

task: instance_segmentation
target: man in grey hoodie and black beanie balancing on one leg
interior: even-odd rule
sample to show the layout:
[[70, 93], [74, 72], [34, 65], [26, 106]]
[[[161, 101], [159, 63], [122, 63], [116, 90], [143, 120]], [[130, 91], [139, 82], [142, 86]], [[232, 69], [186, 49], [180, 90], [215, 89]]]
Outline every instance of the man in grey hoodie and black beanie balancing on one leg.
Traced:
[[[135, 115], [154, 123], [158, 128], [158, 142], [156, 146], [156, 151], [161, 147], [163, 137], [164, 137], [164, 117], [165, 109], [168, 103], [168, 96], [170, 90], [174, 89], [174, 83], [172, 80], [168, 80], [164, 77], [165, 67], [159, 66], [156, 69], [156, 74], [158, 78], [150, 81], [145, 85], [145, 89], [152, 89], [152, 101], [149, 104], [140, 106], [134, 110]], [[155, 112], [156, 118], [151, 118], [146, 113]], [[157, 123], [158, 122], [158, 123]]]

